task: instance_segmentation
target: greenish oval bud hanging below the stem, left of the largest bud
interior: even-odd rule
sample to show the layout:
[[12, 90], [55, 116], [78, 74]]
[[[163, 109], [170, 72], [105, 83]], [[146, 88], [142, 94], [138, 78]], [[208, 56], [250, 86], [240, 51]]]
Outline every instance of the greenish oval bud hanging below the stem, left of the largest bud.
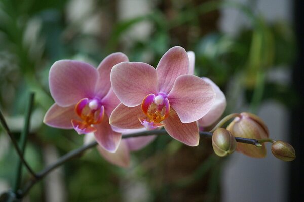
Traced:
[[220, 157], [227, 156], [236, 150], [237, 141], [232, 134], [224, 128], [218, 128], [212, 135], [212, 147]]

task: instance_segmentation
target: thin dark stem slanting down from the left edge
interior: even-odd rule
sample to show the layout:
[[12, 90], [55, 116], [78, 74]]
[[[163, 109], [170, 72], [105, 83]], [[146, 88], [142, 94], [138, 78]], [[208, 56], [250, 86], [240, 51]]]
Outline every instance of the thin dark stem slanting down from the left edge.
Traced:
[[37, 178], [37, 175], [36, 173], [31, 169], [31, 167], [27, 164], [27, 162], [25, 161], [25, 159], [23, 158], [23, 155], [22, 155], [22, 152], [18, 146], [18, 143], [17, 143], [17, 140], [15, 138], [15, 136], [11, 133], [5, 119], [4, 119], [4, 116], [0, 110], [0, 121], [1, 121], [1, 124], [3, 125], [5, 131], [7, 132], [7, 134], [9, 135], [9, 137], [11, 138], [12, 140], [12, 143], [13, 143], [13, 146], [15, 147], [16, 151], [17, 151], [17, 154], [20, 158], [20, 160], [22, 161], [22, 163], [24, 164], [24, 166], [26, 167], [26, 169], [28, 170], [28, 172], [30, 172], [30, 174], [32, 175], [32, 177], [34, 179]]

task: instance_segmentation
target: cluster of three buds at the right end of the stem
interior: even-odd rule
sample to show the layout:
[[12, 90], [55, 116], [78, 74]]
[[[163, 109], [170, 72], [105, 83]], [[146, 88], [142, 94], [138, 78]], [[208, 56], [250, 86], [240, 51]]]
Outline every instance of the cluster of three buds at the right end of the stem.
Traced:
[[[268, 128], [258, 116], [242, 112], [234, 114], [234, 117], [235, 119], [226, 129], [217, 128], [214, 131], [212, 146], [215, 154], [224, 157], [236, 150], [250, 157], [263, 158], [266, 156], [265, 142], [271, 142], [273, 143], [271, 151], [276, 158], [282, 161], [295, 159], [295, 150], [290, 144], [281, 140], [269, 139]], [[258, 144], [237, 142], [235, 138], [254, 139]]]

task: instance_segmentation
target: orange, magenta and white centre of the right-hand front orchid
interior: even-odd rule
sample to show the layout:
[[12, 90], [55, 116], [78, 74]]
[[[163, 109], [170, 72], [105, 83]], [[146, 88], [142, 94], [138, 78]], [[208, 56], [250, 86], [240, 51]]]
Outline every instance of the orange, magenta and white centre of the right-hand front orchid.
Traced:
[[170, 114], [170, 103], [164, 94], [149, 94], [142, 100], [141, 109], [147, 118], [139, 118], [140, 123], [147, 130], [153, 130], [165, 125], [161, 122]]

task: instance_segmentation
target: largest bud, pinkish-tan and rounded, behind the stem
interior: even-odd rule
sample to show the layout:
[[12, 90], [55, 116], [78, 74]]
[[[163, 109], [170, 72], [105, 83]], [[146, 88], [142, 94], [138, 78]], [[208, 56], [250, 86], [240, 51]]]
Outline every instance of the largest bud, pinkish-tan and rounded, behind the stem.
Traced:
[[[266, 124], [256, 115], [242, 112], [236, 117], [228, 126], [233, 136], [250, 138], [250, 139], [266, 139], [269, 136], [269, 132]], [[261, 144], [261, 147], [257, 147], [251, 144], [237, 143], [237, 151], [255, 158], [263, 158], [266, 156], [266, 147]]]

